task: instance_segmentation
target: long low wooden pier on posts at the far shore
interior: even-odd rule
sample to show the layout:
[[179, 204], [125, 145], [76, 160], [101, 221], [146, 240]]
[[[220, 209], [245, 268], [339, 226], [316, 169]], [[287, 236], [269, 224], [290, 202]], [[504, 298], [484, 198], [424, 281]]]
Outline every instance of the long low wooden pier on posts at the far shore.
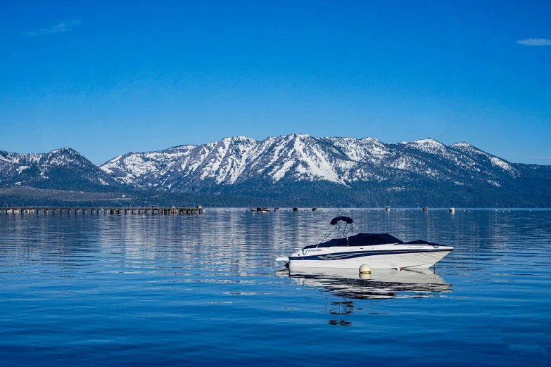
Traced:
[[0, 214], [203, 214], [203, 207], [0, 207]]

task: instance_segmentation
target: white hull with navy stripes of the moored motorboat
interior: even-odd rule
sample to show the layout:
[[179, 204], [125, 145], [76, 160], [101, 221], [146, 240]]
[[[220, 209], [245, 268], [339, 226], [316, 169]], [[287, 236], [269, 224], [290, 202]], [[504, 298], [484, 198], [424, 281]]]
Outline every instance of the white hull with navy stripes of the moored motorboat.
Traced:
[[315, 256], [308, 254], [289, 257], [289, 267], [294, 268], [341, 268], [359, 269], [362, 264], [368, 264], [372, 269], [423, 269], [436, 264], [452, 252], [453, 247], [440, 246], [438, 248], [422, 249], [376, 249], [354, 251], [350, 249], [341, 252], [319, 253]]

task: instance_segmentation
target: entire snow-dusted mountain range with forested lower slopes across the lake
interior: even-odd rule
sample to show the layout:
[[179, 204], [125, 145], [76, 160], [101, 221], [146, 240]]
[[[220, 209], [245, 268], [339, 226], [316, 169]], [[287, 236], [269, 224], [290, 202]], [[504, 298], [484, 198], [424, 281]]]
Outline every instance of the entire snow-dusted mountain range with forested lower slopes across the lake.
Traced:
[[12, 186], [120, 193], [169, 205], [551, 206], [551, 166], [510, 163], [464, 142], [305, 134], [127, 153], [99, 167], [69, 148], [0, 152], [0, 188]]

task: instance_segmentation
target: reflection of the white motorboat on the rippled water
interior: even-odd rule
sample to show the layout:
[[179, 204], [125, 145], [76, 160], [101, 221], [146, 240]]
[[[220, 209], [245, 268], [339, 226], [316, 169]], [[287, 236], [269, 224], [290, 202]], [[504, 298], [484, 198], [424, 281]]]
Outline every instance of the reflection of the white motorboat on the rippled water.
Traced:
[[360, 274], [355, 269], [295, 268], [277, 273], [322, 290], [329, 302], [327, 312], [337, 317], [328, 323], [338, 326], [352, 326], [342, 317], [361, 309], [355, 300], [436, 297], [452, 292], [452, 285], [429, 269], [374, 269], [371, 274]]

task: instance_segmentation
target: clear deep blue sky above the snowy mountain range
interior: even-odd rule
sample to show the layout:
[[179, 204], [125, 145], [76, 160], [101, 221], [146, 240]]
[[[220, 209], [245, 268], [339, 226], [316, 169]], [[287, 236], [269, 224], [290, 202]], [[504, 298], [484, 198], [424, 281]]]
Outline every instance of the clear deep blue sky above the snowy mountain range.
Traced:
[[0, 150], [431, 137], [551, 165], [549, 1], [1, 1]]

